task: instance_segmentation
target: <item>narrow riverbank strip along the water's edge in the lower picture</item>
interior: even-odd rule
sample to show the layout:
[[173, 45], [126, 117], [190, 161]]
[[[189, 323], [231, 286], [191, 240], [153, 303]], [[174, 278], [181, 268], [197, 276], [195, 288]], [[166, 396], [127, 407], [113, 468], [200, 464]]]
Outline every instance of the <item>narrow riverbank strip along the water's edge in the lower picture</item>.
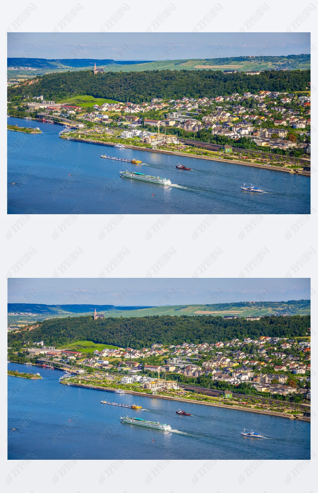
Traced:
[[[116, 390], [115, 388], [111, 388], [111, 387], [100, 387], [100, 386], [93, 386], [92, 385], [85, 385], [85, 384], [68, 384], [67, 382], [63, 382], [61, 381], [60, 384], [63, 384], [63, 385], [68, 385], [69, 387], [80, 387], [80, 388], [88, 388], [90, 390], [102, 390], [104, 392], [114, 392], [114, 390]], [[195, 399], [186, 399], [186, 398], [182, 398], [182, 397], [173, 397], [173, 396], [170, 396], [170, 395], [156, 395], [156, 394], [149, 394], [149, 393], [146, 393], [146, 392], [136, 392], [134, 390], [126, 390], [125, 389], [125, 393], [126, 394], [134, 394], [134, 395], [141, 395], [142, 397], [154, 397], [156, 399], [167, 399], [167, 400], [171, 400], [171, 401], [179, 401], [179, 402], [189, 402], [189, 403], [192, 403], [192, 404], [203, 404], [205, 406], [214, 406], [214, 407], [223, 407], [223, 408], [226, 408], [226, 409], [235, 409], [236, 411], [248, 411], [250, 413], [257, 413], [257, 414], [267, 414], [267, 415], [270, 415], [270, 416], [278, 416], [280, 418], [288, 418], [289, 420], [293, 420], [293, 419], [298, 419], [298, 420], [301, 420], [301, 421], [307, 421], [307, 422], [310, 422], [310, 418], [306, 418], [306, 417], [303, 417], [303, 416], [300, 416], [300, 417], [296, 417], [292, 414], [286, 414], [286, 413], [277, 413], [275, 411], [267, 411], [267, 410], [262, 410], [262, 409], [252, 409], [252, 408], [246, 408], [246, 407], [243, 407], [243, 406], [235, 406], [235, 405], [228, 405], [228, 404], [221, 404], [221, 403], [218, 403], [218, 402], [202, 402], [202, 401], [199, 401], [199, 400], [195, 400]]]

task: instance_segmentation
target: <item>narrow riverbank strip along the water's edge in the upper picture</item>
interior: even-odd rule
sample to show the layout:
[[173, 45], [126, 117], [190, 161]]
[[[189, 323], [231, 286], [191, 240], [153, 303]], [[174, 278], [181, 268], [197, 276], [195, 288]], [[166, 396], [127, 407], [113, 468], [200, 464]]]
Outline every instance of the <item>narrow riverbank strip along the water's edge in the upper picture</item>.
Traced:
[[[106, 145], [109, 147], [115, 146], [115, 143], [113, 143], [113, 142], [102, 142], [102, 141], [95, 141], [92, 139], [77, 139], [76, 137], [67, 138], [67, 137], [63, 137], [63, 136], [60, 136], [60, 138], [66, 139], [68, 141], [74, 141], [74, 142], [87, 142], [89, 144]], [[226, 159], [226, 158], [220, 158], [220, 157], [214, 157], [214, 156], [200, 156], [197, 154], [187, 154], [186, 152], [167, 151], [164, 149], [150, 149], [149, 147], [140, 147], [138, 145], [130, 145], [130, 144], [125, 144], [125, 147], [130, 148], [130, 149], [141, 150], [141, 151], [157, 152], [157, 153], [161, 153], [161, 154], [172, 154], [173, 156], [193, 157], [196, 159], [206, 159], [206, 160], [210, 160], [210, 161], [219, 161], [219, 162], [223, 162], [223, 163], [240, 164], [242, 166], [250, 166], [252, 168], [262, 168], [264, 170], [283, 171], [284, 173], [291, 173], [293, 175], [298, 174], [298, 175], [302, 175], [302, 176], [311, 176], [310, 173], [307, 173], [307, 172], [297, 172], [293, 169], [281, 168], [280, 166], [271, 166], [271, 165], [258, 164], [258, 163], [247, 163], [246, 161], [240, 161], [238, 159]]]

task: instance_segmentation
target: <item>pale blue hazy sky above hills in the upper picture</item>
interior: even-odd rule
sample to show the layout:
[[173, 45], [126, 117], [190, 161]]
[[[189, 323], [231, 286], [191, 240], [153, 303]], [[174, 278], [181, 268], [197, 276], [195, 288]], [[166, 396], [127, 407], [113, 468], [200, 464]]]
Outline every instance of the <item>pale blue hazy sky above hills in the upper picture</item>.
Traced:
[[[264, 55], [298, 55], [309, 53], [310, 33], [11, 33], [8, 36], [8, 57], [20, 57], [31, 44], [33, 58], [70, 58], [68, 54], [77, 44], [82, 50], [77, 58], [113, 58], [116, 51], [127, 44], [125, 60], [157, 60], [170, 45], [176, 48], [171, 60], [186, 58], [215, 58], [254, 55], [266, 45]], [[222, 49], [216, 55], [209, 52], [216, 45]]]

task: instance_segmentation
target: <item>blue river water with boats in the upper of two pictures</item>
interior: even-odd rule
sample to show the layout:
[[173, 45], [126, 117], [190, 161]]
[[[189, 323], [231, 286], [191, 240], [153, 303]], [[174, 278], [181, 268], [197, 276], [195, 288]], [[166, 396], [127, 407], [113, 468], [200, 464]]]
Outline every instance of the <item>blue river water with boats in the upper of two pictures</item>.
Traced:
[[[130, 148], [63, 141], [61, 125], [8, 118], [42, 134], [8, 130], [8, 213], [308, 214], [310, 178], [280, 171]], [[143, 165], [100, 156], [136, 158]], [[180, 162], [192, 171], [177, 170]], [[169, 178], [163, 186], [120, 171]], [[12, 184], [14, 183], [14, 184]], [[243, 192], [246, 183], [266, 193]]]

